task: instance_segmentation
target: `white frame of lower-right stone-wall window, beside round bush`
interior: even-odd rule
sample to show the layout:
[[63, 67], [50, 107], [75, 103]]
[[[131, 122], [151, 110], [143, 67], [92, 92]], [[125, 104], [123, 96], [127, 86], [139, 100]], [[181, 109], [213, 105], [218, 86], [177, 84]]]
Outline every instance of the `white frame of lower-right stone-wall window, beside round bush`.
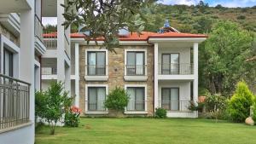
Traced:
[[127, 111], [125, 107], [125, 114], [147, 114], [148, 113], [147, 84], [125, 84], [125, 90], [127, 90], [127, 88], [144, 88], [145, 89], [144, 91], [145, 110], [144, 111]]

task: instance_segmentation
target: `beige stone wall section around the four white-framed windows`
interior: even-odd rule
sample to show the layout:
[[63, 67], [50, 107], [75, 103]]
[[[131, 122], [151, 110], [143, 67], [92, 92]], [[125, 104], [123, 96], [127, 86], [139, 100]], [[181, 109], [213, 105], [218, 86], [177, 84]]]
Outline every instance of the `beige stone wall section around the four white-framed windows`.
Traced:
[[[148, 116], [153, 115], [154, 107], [154, 47], [153, 46], [122, 46], [115, 49], [117, 54], [108, 52], [108, 82], [87, 82], [84, 80], [85, 75], [85, 49], [99, 49], [97, 46], [80, 46], [79, 47], [79, 87], [80, 100], [79, 106], [84, 112], [85, 109], [85, 84], [108, 84], [108, 91], [116, 86], [125, 87], [125, 84], [147, 84], [147, 109]], [[145, 82], [126, 82], [125, 75], [125, 49], [147, 49], [147, 72], [148, 80]]]

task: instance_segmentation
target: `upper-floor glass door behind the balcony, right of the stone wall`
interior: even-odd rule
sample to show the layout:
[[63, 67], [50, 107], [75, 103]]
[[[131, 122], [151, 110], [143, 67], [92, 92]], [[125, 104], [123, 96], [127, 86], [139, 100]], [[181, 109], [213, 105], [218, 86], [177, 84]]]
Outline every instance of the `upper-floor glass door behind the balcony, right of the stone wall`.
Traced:
[[162, 74], [179, 73], [179, 54], [162, 55]]

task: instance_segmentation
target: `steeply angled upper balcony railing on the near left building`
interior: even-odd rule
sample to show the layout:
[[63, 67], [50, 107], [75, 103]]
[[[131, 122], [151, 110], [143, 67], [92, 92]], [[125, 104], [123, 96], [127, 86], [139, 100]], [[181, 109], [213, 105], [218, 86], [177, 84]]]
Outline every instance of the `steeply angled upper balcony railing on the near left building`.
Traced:
[[46, 45], [44, 44], [43, 37], [43, 25], [37, 14], [35, 14], [35, 47], [40, 55], [44, 55], [46, 52]]

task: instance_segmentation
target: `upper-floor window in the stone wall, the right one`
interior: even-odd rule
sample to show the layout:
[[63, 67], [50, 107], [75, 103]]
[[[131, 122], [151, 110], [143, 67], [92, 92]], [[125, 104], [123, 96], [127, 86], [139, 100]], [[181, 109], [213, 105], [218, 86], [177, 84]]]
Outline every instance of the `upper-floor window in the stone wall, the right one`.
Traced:
[[142, 51], [128, 51], [126, 58], [126, 75], [145, 74], [145, 53]]

